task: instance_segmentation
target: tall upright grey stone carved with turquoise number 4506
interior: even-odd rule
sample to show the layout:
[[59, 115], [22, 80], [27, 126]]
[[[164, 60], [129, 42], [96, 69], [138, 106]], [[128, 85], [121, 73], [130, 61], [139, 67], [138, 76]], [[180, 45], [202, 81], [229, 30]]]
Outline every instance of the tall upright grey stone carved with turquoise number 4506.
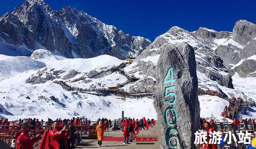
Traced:
[[[170, 74], [167, 73], [170, 70], [169, 68], [173, 69]], [[175, 79], [173, 83], [172, 80], [168, 81], [171, 76]], [[169, 86], [175, 87], [165, 92], [165, 89]], [[175, 93], [176, 101], [171, 92]], [[154, 106], [157, 110], [161, 128], [161, 147], [163, 149], [169, 149], [169, 146], [175, 144], [175, 138], [172, 138], [175, 136], [179, 140], [177, 149], [195, 149], [193, 144], [195, 141], [194, 133], [198, 130], [200, 116], [197, 92], [198, 79], [195, 53], [192, 46], [187, 43], [163, 46], [163, 52], [157, 62], [157, 84], [154, 92]], [[168, 96], [169, 94], [170, 96]], [[172, 110], [166, 112], [168, 107], [173, 107], [177, 115]], [[167, 124], [167, 121], [169, 124]], [[168, 137], [167, 131], [170, 128], [177, 130], [177, 134]], [[171, 139], [169, 140], [169, 138]], [[169, 143], [171, 145], [168, 145]]]

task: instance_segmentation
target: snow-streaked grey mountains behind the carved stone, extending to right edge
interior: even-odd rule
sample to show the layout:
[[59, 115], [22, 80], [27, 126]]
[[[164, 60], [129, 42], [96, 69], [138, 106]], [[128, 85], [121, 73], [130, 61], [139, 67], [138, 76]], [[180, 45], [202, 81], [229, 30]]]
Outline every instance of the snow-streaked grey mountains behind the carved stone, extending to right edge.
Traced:
[[[255, 24], [239, 20], [233, 32], [217, 32], [199, 28], [188, 32], [174, 26], [168, 32], [154, 40], [125, 70], [141, 79], [124, 87], [126, 90], [154, 89], [157, 75], [157, 61], [163, 49], [175, 43], [189, 43], [195, 50], [198, 85], [201, 89], [218, 91], [226, 97], [244, 97], [251, 106], [255, 106], [256, 50], [249, 46], [256, 39]], [[245, 45], [247, 44], [247, 45]], [[174, 55], [175, 56], [175, 55]], [[201, 110], [209, 109], [211, 102], [205, 102], [208, 96], [200, 96]], [[212, 99], [209, 99], [209, 101]], [[223, 100], [223, 99], [222, 99]], [[226, 103], [215, 97], [219, 104]], [[205, 105], [209, 103], [209, 105]], [[206, 109], [206, 107], [208, 107]], [[221, 113], [223, 109], [216, 109]], [[208, 112], [209, 115], [211, 114]], [[215, 113], [215, 112], [214, 112]], [[255, 115], [255, 114], [254, 114]], [[218, 115], [215, 115], [218, 117]]]

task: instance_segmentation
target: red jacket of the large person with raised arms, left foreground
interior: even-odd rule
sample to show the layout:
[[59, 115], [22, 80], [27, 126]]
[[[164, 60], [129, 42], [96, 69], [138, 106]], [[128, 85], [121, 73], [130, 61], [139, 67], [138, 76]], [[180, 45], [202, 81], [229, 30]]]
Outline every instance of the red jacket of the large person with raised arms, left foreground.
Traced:
[[67, 137], [68, 133], [65, 131], [57, 131], [55, 128], [51, 129], [49, 132], [50, 137], [50, 145], [49, 149], [60, 149], [60, 140], [63, 140], [63, 143], [61, 145], [64, 146], [65, 149], [68, 149], [67, 146]]

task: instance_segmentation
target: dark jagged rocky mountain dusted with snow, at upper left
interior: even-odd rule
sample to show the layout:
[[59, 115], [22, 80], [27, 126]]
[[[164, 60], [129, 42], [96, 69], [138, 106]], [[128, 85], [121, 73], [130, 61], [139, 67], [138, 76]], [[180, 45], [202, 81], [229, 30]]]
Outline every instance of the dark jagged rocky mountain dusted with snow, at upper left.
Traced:
[[0, 54], [26, 56], [47, 49], [68, 58], [95, 57], [102, 52], [136, 57], [151, 43], [102, 23], [71, 7], [53, 10], [44, 0], [25, 0], [0, 18]]

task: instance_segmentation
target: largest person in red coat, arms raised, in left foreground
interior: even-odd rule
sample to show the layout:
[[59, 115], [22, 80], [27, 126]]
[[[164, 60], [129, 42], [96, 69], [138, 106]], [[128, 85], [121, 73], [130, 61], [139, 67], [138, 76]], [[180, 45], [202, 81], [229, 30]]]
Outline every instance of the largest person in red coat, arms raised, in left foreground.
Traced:
[[65, 125], [60, 131], [58, 131], [58, 128], [58, 122], [54, 122], [52, 124], [52, 129], [49, 131], [49, 149], [68, 149], [66, 138], [69, 134], [65, 131], [67, 126]]

